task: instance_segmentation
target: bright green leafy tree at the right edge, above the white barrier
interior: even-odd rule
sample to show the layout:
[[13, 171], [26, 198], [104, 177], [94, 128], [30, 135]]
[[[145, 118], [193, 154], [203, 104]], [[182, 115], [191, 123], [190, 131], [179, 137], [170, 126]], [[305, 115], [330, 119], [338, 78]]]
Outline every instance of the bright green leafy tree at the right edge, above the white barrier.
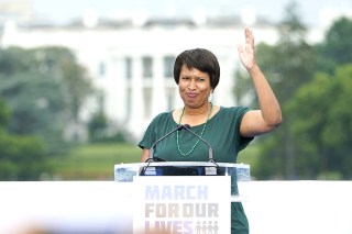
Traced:
[[[305, 178], [352, 178], [352, 64], [317, 74], [287, 105], [293, 115], [296, 167]], [[305, 103], [305, 104], [302, 104]]]

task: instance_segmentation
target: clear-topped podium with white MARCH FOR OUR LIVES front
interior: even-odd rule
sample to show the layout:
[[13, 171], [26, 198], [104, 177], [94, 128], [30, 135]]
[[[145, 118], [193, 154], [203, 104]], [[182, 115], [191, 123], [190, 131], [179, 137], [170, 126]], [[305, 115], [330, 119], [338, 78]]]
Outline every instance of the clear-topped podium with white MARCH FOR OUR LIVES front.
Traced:
[[243, 200], [245, 164], [152, 161], [114, 165], [114, 181], [131, 183], [133, 233], [230, 233], [231, 202]]

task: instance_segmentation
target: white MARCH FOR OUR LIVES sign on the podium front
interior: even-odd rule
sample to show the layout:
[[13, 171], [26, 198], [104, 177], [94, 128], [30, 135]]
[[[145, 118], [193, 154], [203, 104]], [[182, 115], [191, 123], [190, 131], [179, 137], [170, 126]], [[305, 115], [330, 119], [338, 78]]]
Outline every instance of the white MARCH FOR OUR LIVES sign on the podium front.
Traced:
[[230, 233], [230, 176], [144, 176], [133, 183], [133, 233]]

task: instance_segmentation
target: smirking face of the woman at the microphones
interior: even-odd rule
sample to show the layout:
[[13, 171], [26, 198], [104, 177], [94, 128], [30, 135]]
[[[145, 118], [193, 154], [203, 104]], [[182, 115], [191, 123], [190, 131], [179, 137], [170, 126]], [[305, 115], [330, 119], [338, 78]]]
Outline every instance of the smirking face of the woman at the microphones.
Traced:
[[196, 68], [182, 66], [178, 81], [180, 98], [188, 108], [199, 108], [208, 103], [211, 92], [210, 77]]

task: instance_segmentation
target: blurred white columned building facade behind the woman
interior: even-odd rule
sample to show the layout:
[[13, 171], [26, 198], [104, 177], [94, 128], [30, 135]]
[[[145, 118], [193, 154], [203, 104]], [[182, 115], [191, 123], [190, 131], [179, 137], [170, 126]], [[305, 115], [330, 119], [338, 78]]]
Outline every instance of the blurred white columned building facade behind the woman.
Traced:
[[[213, 102], [223, 107], [237, 104], [234, 73], [242, 66], [237, 44], [244, 41], [243, 30], [243, 25], [196, 25], [185, 21], [122, 27], [21, 29], [10, 23], [4, 27], [1, 46], [70, 48], [88, 69], [94, 86], [102, 91], [109, 120], [138, 141], [156, 114], [183, 107], [173, 65], [185, 49], [204, 47], [215, 53], [221, 76]], [[277, 36], [273, 26], [254, 26], [254, 34], [256, 43], [274, 43]], [[82, 120], [96, 108], [87, 104]]]

